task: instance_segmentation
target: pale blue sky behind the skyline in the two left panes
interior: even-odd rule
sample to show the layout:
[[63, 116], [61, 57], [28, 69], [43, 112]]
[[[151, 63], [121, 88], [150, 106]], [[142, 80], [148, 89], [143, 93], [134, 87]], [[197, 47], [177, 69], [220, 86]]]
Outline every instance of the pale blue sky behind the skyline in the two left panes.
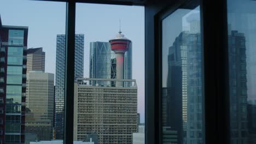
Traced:
[[[78, 3], [75, 33], [85, 35], [84, 76], [89, 76], [89, 43], [108, 41], [121, 31], [132, 40], [132, 75], [144, 122], [144, 7]], [[55, 74], [56, 35], [65, 34], [66, 3], [1, 0], [3, 25], [28, 26], [28, 48], [43, 47], [45, 71]]]

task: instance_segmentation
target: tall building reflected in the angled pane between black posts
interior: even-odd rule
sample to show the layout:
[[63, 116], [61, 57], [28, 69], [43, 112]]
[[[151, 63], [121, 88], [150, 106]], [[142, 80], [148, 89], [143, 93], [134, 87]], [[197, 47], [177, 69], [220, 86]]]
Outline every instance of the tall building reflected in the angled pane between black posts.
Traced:
[[201, 73], [201, 35], [184, 31], [169, 47], [167, 88], [162, 89], [163, 126], [177, 132], [177, 143], [202, 143]]

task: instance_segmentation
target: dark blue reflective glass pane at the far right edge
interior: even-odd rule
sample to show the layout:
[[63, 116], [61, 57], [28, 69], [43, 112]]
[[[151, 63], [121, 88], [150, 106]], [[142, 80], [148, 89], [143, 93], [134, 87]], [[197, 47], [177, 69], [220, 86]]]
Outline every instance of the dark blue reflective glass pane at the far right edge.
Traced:
[[256, 1], [228, 0], [230, 143], [256, 143]]

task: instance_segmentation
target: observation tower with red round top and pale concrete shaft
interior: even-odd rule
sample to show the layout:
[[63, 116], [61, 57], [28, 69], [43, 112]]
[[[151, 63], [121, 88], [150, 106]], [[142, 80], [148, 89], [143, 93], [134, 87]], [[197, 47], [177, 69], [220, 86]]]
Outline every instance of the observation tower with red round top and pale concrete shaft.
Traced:
[[[124, 53], [129, 49], [131, 40], [124, 37], [119, 30], [117, 36], [114, 39], [110, 39], [109, 43], [111, 50], [117, 55], [117, 79], [124, 79]], [[123, 81], [117, 81], [117, 87], [123, 87]]]

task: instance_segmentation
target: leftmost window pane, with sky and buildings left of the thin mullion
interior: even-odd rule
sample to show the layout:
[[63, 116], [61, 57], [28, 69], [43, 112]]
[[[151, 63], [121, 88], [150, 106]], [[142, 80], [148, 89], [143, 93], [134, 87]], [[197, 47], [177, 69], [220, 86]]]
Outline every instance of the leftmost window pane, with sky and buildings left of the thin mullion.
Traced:
[[0, 9], [0, 143], [61, 143], [64, 96], [55, 94], [55, 72], [65, 70], [56, 59], [65, 54], [56, 49], [57, 35], [65, 34], [66, 3], [2, 0]]

